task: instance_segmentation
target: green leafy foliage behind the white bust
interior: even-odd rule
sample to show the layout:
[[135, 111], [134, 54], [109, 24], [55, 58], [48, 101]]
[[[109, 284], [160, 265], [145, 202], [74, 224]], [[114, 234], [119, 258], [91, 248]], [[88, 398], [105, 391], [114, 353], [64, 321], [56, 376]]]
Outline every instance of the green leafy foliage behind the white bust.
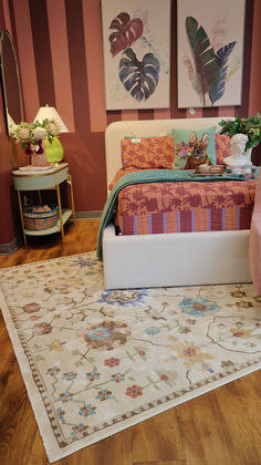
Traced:
[[236, 117], [234, 120], [222, 120], [220, 134], [227, 134], [232, 137], [236, 134], [246, 134], [248, 143], [246, 149], [255, 147], [261, 142], [261, 118], [257, 113], [254, 116]]

